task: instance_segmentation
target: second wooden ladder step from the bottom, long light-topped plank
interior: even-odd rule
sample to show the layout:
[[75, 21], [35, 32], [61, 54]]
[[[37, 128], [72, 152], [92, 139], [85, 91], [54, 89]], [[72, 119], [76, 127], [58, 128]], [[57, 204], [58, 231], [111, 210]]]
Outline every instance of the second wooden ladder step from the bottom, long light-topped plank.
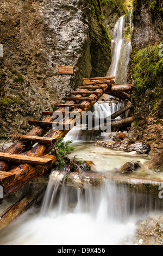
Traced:
[[41, 166], [51, 166], [52, 164], [52, 159], [8, 153], [0, 153], [0, 160], [12, 163], [40, 164]]

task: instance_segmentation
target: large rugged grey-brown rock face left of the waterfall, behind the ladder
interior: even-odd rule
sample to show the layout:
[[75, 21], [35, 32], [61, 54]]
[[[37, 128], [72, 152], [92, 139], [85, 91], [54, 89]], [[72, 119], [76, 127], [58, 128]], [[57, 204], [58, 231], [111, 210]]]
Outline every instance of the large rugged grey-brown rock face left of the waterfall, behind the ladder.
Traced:
[[[1, 1], [0, 136], [20, 121], [20, 132], [28, 131], [28, 119], [52, 111], [83, 77], [105, 76], [111, 49], [101, 13], [100, 0]], [[58, 75], [67, 65], [74, 75]]]

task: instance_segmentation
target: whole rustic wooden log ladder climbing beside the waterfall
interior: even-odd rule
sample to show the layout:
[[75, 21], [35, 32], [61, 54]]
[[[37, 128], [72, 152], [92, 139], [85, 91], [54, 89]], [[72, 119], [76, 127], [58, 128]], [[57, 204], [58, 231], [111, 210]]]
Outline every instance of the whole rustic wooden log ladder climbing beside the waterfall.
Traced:
[[[27, 135], [11, 135], [11, 138], [18, 142], [11, 145], [5, 153], [0, 153], [0, 185], [3, 186], [4, 198], [52, 168], [57, 160], [55, 156], [48, 154], [52, 145], [68, 133], [71, 125], [77, 124], [83, 112], [89, 111], [99, 97], [114, 84], [114, 78], [84, 78], [84, 86], [72, 92], [75, 96], [64, 97], [64, 100], [68, 101], [65, 104], [55, 104], [57, 111], [42, 112], [43, 115], [47, 115], [43, 121], [29, 120], [29, 124], [35, 127]], [[61, 114], [63, 119], [55, 123], [56, 116]], [[74, 117], [67, 118], [67, 114], [73, 114], [76, 121], [74, 122]], [[59, 130], [56, 127], [52, 130], [53, 124], [60, 124], [63, 129]], [[69, 130], [64, 129], [66, 125], [70, 125]], [[37, 144], [34, 145], [35, 143]], [[11, 168], [13, 163], [14, 168]], [[16, 164], [20, 165], [15, 166]]]

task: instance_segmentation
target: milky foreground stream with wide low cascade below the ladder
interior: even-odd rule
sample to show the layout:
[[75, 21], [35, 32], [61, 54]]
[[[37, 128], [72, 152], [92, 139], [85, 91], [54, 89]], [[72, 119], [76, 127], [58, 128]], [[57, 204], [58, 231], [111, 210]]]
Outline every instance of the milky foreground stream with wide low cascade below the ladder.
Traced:
[[[73, 144], [76, 149], [71, 157], [93, 160], [98, 172], [111, 172], [134, 156], [97, 148], [92, 142]], [[139, 155], [134, 160], [147, 161]], [[2, 230], [0, 244], [133, 245], [136, 222], [159, 214], [159, 209], [159, 198], [130, 192], [123, 185], [105, 180], [101, 190], [82, 191], [54, 184], [52, 174], [41, 206], [28, 210]]]

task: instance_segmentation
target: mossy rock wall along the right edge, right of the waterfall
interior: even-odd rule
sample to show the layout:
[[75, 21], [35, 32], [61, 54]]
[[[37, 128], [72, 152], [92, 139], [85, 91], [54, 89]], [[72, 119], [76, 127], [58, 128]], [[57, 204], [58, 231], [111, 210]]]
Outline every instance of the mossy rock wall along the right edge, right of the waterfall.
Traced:
[[[135, 121], [129, 138], [145, 141], [152, 153], [163, 149], [163, 13], [162, 1], [134, 1], [133, 51], [128, 82], [134, 80]], [[133, 77], [133, 80], [131, 78]]]

